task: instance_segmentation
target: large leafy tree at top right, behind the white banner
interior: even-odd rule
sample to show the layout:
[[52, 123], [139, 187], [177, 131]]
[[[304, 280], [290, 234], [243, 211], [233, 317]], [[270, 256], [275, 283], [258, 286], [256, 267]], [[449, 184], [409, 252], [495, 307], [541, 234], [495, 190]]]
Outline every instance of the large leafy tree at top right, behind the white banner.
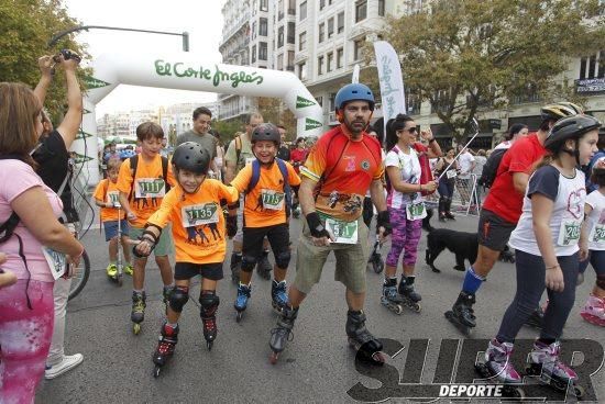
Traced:
[[389, 19], [383, 34], [400, 57], [406, 91], [464, 141], [483, 109], [532, 91], [573, 99], [570, 57], [603, 48], [602, 15], [598, 0], [435, 0]]

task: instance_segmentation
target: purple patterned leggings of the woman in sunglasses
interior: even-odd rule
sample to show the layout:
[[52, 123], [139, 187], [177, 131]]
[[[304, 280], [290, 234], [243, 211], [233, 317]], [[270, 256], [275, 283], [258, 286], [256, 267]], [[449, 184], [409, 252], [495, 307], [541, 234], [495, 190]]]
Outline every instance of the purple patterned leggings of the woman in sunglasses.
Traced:
[[397, 267], [399, 256], [404, 251], [404, 265], [414, 266], [418, 251], [418, 242], [422, 233], [422, 221], [408, 221], [406, 209], [388, 209], [393, 234], [391, 236], [391, 251], [386, 256], [386, 265]]

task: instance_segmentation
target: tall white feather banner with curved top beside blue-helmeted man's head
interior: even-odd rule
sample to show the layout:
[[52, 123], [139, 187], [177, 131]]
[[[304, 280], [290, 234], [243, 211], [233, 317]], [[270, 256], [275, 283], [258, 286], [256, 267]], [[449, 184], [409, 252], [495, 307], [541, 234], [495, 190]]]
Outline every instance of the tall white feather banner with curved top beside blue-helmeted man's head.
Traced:
[[388, 42], [375, 42], [374, 52], [376, 53], [376, 67], [378, 68], [383, 115], [386, 126], [388, 120], [399, 113], [407, 113], [404, 79], [402, 78], [399, 58]]

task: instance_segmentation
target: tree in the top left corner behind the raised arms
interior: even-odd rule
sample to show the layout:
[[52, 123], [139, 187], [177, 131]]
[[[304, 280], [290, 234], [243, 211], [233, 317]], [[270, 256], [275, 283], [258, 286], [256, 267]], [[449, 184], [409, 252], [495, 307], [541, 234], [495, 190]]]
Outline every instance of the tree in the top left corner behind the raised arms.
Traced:
[[[21, 81], [34, 88], [40, 79], [40, 56], [56, 54], [64, 48], [86, 56], [84, 46], [67, 36], [58, 42], [55, 49], [47, 47], [53, 34], [78, 25], [67, 14], [61, 0], [0, 0], [0, 21], [2, 81]], [[79, 75], [82, 77], [84, 71]], [[44, 105], [55, 122], [63, 116], [65, 102], [65, 77], [63, 71], [57, 71]]]

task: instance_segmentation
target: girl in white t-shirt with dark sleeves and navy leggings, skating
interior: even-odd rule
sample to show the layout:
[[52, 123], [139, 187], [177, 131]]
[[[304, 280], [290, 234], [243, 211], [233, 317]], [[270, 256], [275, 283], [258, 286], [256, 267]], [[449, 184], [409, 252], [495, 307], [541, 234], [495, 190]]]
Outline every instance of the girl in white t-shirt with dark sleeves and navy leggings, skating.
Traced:
[[490, 374], [502, 382], [521, 382], [510, 354], [544, 289], [550, 303], [540, 337], [529, 355], [529, 372], [541, 372], [543, 380], [562, 390], [578, 380], [575, 372], [559, 360], [559, 338], [574, 304], [579, 257], [583, 260], [587, 256], [582, 227], [585, 178], [578, 167], [587, 164], [597, 150], [600, 126], [588, 115], [558, 121], [544, 142], [550, 154], [529, 179], [522, 214], [510, 235], [510, 246], [516, 249], [517, 293], [485, 351]]

